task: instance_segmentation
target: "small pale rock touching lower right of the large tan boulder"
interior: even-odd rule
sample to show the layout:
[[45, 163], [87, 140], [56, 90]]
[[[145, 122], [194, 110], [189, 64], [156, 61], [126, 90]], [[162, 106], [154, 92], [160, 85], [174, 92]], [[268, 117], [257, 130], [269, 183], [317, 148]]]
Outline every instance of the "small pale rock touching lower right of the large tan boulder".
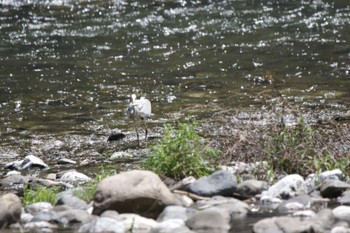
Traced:
[[183, 221], [186, 221], [188, 217], [196, 212], [197, 210], [192, 208], [185, 208], [182, 206], [167, 206], [158, 216], [157, 221], [163, 222], [170, 219], [181, 219]]

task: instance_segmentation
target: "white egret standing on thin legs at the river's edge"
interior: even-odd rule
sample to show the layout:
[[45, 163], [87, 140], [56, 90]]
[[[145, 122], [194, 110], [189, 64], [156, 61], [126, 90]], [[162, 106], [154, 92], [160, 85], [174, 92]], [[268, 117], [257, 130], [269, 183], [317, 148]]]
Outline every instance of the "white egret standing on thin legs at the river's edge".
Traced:
[[136, 131], [137, 136], [137, 143], [140, 146], [140, 140], [139, 140], [139, 132], [137, 129], [137, 124], [140, 121], [143, 121], [144, 127], [145, 127], [145, 141], [147, 141], [147, 125], [146, 125], [146, 119], [151, 117], [152, 114], [152, 107], [151, 102], [146, 99], [145, 97], [140, 97], [140, 99], [136, 99], [136, 95], [131, 95], [131, 103], [129, 104], [127, 108], [127, 114], [130, 120], [133, 121], [134, 128]]

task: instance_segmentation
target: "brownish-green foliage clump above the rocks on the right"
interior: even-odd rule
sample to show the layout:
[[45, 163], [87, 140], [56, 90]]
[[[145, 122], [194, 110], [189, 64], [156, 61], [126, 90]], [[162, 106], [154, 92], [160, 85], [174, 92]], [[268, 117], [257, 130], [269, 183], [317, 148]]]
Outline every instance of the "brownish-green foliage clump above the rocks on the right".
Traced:
[[273, 171], [308, 175], [339, 168], [346, 171], [349, 162], [336, 159], [327, 148], [317, 150], [317, 134], [301, 117], [295, 127], [284, 126], [265, 145], [267, 162]]

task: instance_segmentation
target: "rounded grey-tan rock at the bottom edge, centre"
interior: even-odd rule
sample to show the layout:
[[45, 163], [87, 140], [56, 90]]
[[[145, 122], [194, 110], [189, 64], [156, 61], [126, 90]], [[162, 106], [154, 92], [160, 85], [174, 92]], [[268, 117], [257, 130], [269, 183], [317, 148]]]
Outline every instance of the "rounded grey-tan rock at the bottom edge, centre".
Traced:
[[197, 233], [227, 233], [230, 229], [229, 216], [216, 210], [202, 210], [186, 221], [186, 226]]

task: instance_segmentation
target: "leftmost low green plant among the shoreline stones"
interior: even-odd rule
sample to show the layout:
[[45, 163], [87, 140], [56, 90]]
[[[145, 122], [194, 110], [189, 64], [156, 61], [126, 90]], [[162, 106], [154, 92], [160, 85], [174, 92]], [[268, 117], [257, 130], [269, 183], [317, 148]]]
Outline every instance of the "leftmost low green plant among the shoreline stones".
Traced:
[[31, 186], [26, 185], [23, 192], [24, 205], [33, 204], [36, 202], [56, 203], [56, 194], [60, 191], [60, 187], [46, 188], [41, 185]]

